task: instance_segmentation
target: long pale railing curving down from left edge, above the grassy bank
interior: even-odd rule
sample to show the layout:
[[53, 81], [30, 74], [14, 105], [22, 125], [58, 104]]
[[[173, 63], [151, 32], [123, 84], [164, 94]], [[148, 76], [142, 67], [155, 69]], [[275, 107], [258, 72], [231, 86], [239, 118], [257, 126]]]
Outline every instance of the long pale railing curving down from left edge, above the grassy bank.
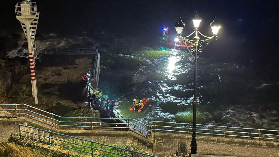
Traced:
[[[148, 136], [149, 133], [135, 129], [134, 125], [146, 125], [131, 118], [100, 118], [100, 117], [73, 117], [59, 116], [26, 104], [0, 104], [0, 116], [28, 117], [43, 122], [58, 129], [83, 129], [83, 130], [126, 130], [141, 132]], [[1, 113], [3, 112], [3, 113]], [[104, 122], [112, 120], [114, 122]], [[123, 121], [119, 122], [119, 120]]]

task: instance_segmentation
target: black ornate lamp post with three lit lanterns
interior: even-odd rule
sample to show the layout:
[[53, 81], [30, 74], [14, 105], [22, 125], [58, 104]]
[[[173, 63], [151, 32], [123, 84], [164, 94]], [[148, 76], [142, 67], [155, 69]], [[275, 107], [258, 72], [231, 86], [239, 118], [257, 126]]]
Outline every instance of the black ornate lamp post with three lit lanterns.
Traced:
[[[215, 19], [214, 19], [215, 20]], [[184, 29], [185, 23], [182, 21], [181, 17], [178, 19], [178, 21], [175, 23], [174, 27], [176, 29], [176, 33], [178, 36], [176, 38], [181, 39], [191, 54], [191, 56], [194, 59], [194, 98], [193, 98], [193, 126], [192, 126], [192, 140], [191, 140], [191, 154], [197, 154], [197, 141], [196, 141], [196, 112], [197, 112], [197, 61], [200, 57], [202, 51], [204, 48], [210, 43], [210, 41], [214, 38], [218, 38], [217, 33], [220, 29], [220, 26], [216, 24], [216, 22], [210, 23], [213, 36], [208, 37], [203, 35], [199, 31], [199, 26], [202, 21], [202, 18], [199, 16], [198, 11], [195, 15], [195, 17], [192, 19], [194, 24], [194, 31], [188, 35], [188, 36], [181, 36], [182, 31]], [[200, 35], [200, 37], [199, 37]], [[178, 41], [178, 39], [175, 39]], [[193, 40], [194, 39], [194, 40]], [[190, 43], [191, 45], [188, 45], [187, 43]], [[199, 53], [199, 54], [198, 54]]]

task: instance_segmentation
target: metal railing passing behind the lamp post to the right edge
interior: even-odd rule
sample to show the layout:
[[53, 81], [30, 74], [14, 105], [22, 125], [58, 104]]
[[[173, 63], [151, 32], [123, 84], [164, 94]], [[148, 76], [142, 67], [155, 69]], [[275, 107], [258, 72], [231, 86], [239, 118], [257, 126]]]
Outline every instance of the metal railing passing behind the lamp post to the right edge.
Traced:
[[[152, 121], [151, 132], [192, 133], [191, 123]], [[196, 124], [196, 134], [279, 141], [279, 130]]]

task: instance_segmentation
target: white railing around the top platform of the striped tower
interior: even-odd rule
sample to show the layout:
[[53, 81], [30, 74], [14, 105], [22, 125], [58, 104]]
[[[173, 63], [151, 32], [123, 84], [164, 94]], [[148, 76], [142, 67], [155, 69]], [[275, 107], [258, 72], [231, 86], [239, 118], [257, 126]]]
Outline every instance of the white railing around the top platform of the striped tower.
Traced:
[[[27, 2], [29, 3], [29, 2]], [[21, 3], [17, 3], [15, 5], [15, 15], [16, 16], [25, 16], [27, 15], [36, 15], [37, 14], [37, 4], [36, 3], [29, 3], [30, 7], [21, 7]], [[23, 13], [23, 14], [22, 14]]]

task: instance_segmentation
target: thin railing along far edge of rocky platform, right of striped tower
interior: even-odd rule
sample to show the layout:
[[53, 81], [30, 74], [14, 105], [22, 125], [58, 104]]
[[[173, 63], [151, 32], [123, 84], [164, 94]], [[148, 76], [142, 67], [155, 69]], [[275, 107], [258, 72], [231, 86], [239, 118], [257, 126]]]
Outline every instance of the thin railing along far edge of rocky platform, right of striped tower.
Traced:
[[88, 54], [88, 53], [93, 53], [95, 54], [96, 52], [98, 51], [97, 48], [93, 47], [93, 48], [69, 48], [69, 49], [43, 49], [41, 51], [41, 53], [43, 55], [45, 54], [59, 54], [59, 55], [62, 55], [62, 54]]

